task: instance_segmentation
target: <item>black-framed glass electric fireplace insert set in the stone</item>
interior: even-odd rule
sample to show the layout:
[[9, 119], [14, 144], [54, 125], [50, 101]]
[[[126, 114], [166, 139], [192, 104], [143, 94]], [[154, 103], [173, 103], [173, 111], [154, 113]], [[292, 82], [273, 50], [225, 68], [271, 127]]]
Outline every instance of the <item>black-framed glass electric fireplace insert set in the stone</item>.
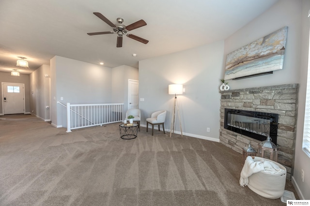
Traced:
[[278, 114], [225, 108], [224, 128], [259, 141], [270, 136], [277, 145]]

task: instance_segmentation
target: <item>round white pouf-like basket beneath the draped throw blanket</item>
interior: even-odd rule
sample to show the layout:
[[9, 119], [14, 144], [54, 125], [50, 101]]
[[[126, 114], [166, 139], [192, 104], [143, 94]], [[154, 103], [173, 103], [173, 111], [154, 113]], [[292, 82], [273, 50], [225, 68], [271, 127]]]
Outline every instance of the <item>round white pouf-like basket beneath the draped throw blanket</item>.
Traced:
[[255, 157], [254, 162], [257, 161], [269, 161], [277, 164], [283, 172], [279, 174], [269, 174], [266, 171], [254, 173], [248, 177], [248, 188], [255, 193], [271, 199], [280, 198], [284, 193], [285, 181], [286, 181], [286, 168], [279, 164], [265, 158]]

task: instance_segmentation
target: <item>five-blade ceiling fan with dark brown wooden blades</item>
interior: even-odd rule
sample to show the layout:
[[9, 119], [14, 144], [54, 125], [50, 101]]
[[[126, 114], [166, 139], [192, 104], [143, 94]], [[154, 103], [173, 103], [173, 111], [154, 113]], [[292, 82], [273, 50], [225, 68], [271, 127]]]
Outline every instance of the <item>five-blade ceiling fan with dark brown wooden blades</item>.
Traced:
[[140, 27], [143, 27], [146, 25], [144, 20], [139, 20], [135, 23], [132, 23], [128, 26], [125, 26], [123, 24], [124, 19], [123, 18], [117, 18], [117, 22], [116, 24], [113, 24], [112, 22], [109, 21], [109, 19], [107, 19], [104, 15], [98, 13], [98, 12], [94, 12], [94, 15], [96, 15], [97, 17], [99, 17], [102, 21], [106, 22], [107, 24], [109, 24], [109, 26], [111, 26], [113, 28], [113, 31], [101, 31], [101, 32], [93, 32], [93, 33], [87, 33], [88, 35], [98, 35], [98, 34], [113, 34], [113, 33], [117, 33], [117, 42], [116, 42], [116, 47], [122, 47], [123, 46], [123, 35], [126, 35], [127, 37], [134, 39], [138, 42], [141, 42], [143, 44], [147, 44], [149, 41], [146, 39], [143, 39], [139, 36], [133, 35], [133, 34], [129, 34], [127, 33], [130, 30], [133, 29], [137, 29]]

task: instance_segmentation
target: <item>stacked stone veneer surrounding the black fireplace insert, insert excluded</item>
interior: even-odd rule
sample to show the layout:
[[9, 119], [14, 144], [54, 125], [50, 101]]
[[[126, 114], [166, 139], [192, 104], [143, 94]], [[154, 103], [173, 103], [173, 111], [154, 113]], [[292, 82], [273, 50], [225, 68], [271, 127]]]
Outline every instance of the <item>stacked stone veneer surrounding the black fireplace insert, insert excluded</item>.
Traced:
[[220, 143], [240, 154], [243, 147], [249, 143], [256, 151], [258, 143], [261, 143], [259, 140], [225, 129], [225, 108], [278, 114], [278, 162], [286, 167], [287, 178], [290, 179], [294, 165], [297, 96], [298, 84], [221, 91]]

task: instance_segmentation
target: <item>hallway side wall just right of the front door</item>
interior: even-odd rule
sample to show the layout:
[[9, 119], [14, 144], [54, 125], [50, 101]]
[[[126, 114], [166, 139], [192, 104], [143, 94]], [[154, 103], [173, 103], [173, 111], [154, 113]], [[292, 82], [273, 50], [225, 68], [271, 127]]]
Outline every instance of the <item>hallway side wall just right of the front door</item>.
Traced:
[[39, 118], [46, 121], [50, 120], [50, 94], [49, 94], [49, 81], [50, 77], [49, 65], [42, 65], [37, 70], [32, 72], [30, 76], [30, 112]]

